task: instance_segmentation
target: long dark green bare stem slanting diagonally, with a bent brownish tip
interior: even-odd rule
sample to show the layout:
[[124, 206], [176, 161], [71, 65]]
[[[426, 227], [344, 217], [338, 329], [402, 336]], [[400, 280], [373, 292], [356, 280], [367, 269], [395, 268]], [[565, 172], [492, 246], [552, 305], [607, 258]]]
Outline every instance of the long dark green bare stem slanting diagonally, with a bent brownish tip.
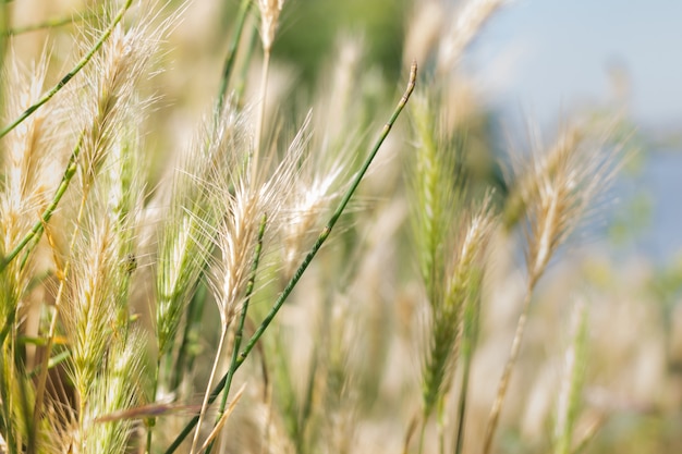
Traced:
[[[361, 168], [360, 172], [355, 175], [355, 179], [353, 180], [353, 183], [349, 187], [349, 189], [345, 193], [343, 199], [341, 199], [341, 201], [339, 203], [339, 206], [337, 207], [336, 211], [333, 212], [333, 214], [329, 219], [329, 222], [327, 223], [327, 226], [325, 226], [325, 229], [320, 233], [319, 237], [317, 238], [317, 242], [315, 243], [315, 246], [313, 246], [313, 248], [307, 254], [307, 256], [305, 257], [305, 259], [303, 260], [303, 262], [301, 263], [301, 266], [299, 267], [296, 272], [294, 272], [294, 275], [291, 278], [291, 280], [289, 281], [289, 283], [284, 287], [283, 292], [278, 297], [277, 302], [275, 303], [275, 305], [270, 309], [270, 312], [268, 312], [268, 315], [265, 317], [265, 319], [263, 320], [263, 322], [260, 323], [260, 326], [258, 327], [256, 332], [251, 336], [251, 339], [248, 340], [248, 343], [246, 344], [246, 347], [244, 347], [244, 349], [239, 354], [239, 357], [236, 359], [236, 363], [234, 365], [234, 370], [232, 371], [232, 373], [234, 373], [240, 368], [240, 366], [244, 363], [244, 360], [246, 359], [246, 357], [248, 356], [251, 351], [254, 348], [254, 346], [256, 345], [256, 343], [258, 342], [258, 340], [260, 339], [260, 336], [263, 335], [265, 330], [272, 322], [272, 319], [275, 318], [275, 316], [277, 315], [279, 309], [284, 304], [284, 300], [287, 299], [287, 297], [293, 291], [294, 286], [296, 285], [296, 283], [301, 279], [301, 277], [303, 275], [303, 272], [310, 265], [310, 261], [313, 260], [315, 255], [319, 251], [319, 249], [321, 248], [321, 246], [325, 243], [325, 241], [329, 237], [329, 234], [331, 233], [331, 229], [333, 228], [333, 225], [337, 223], [337, 221], [339, 220], [339, 218], [343, 213], [343, 210], [345, 209], [345, 206], [348, 205], [348, 203], [350, 201], [351, 197], [355, 193], [355, 189], [357, 189], [357, 186], [360, 185], [360, 182], [365, 176], [365, 173], [367, 172], [367, 169], [369, 168], [369, 164], [372, 163], [372, 161], [376, 157], [377, 152], [379, 151], [379, 148], [383, 144], [383, 140], [386, 140], [386, 137], [388, 136], [388, 134], [390, 133], [391, 128], [393, 127], [393, 123], [395, 123], [395, 120], [398, 120], [398, 116], [400, 115], [400, 113], [402, 112], [403, 108], [407, 103], [407, 100], [410, 99], [410, 96], [412, 95], [412, 91], [414, 90], [414, 86], [415, 86], [415, 83], [416, 83], [416, 77], [417, 77], [417, 63], [413, 62], [412, 63], [412, 68], [410, 70], [410, 82], [407, 83], [407, 88], [405, 89], [405, 93], [403, 94], [402, 98], [400, 99], [400, 102], [398, 102], [398, 106], [393, 110], [393, 114], [391, 115], [389, 121], [386, 123], [386, 125], [383, 125], [383, 130], [381, 131], [381, 134], [379, 135], [379, 137], [377, 138], [374, 147], [372, 148], [372, 151], [369, 152], [369, 156], [365, 159], [365, 162], [364, 162], [363, 167]], [[214, 391], [211, 392], [209, 402], [212, 403], [218, 397], [218, 395], [220, 394], [220, 391], [226, 385], [227, 378], [228, 378], [228, 376], [226, 375], [222, 378], [222, 380], [220, 380], [220, 382], [216, 385], [216, 388], [214, 388]], [[199, 419], [199, 417], [195, 416], [194, 418], [192, 418], [190, 420], [190, 422], [187, 422], [187, 425], [182, 430], [182, 432], [180, 432], [180, 434], [175, 438], [173, 443], [168, 447], [168, 450], [166, 450], [166, 454], [173, 453], [180, 446], [180, 444], [187, 437], [187, 434], [190, 432], [192, 432], [192, 429], [194, 428], [194, 426], [196, 425], [198, 419]]]

